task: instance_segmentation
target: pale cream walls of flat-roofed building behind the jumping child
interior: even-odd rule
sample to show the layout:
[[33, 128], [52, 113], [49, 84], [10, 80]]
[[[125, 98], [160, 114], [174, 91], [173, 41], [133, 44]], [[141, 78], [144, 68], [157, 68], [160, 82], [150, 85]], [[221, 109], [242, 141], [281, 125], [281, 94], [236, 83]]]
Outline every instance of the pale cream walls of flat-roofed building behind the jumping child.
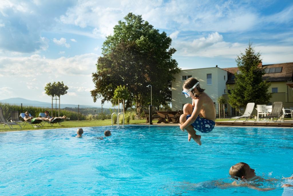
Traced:
[[[207, 85], [207, 74], [212, 74], [212, 84]], [[181, 70], [180, 73], [174, 75], [175, 81], [172, 81], [172, 110], [182, 110], [185, 103], [192, 103], [191, 98], [186, 98], [182, 94], [182, 76], [191, 75], [200, 82], [200, 87], [206, 89], [205, 92], [216, 103], [216, 111], [218, 111], [217, 98], [224, 94], [226, 89], [227, 72], [218, 67]], [[225, 76], [225, 80], [224, 80]]]

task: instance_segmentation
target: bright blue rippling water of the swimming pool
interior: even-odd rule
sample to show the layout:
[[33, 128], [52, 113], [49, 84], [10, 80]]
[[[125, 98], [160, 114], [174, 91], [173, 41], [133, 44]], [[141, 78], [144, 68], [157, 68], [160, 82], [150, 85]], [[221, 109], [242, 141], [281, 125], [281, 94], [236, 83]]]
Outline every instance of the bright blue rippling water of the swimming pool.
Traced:
[[[0, 133], [0, 195], [282, 195], [293, 173], [293, 129], [216, 127], [202, 146], [178, 126], [125, 126]], [[229, 168], [246, 162], [260, 187], [231, 183]]]

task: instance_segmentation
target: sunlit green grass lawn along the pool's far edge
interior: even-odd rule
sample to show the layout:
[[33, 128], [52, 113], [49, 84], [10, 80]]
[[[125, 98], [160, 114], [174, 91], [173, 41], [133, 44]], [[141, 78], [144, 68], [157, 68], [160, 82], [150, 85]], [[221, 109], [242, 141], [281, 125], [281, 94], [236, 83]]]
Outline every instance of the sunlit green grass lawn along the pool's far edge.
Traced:
[[[286, 118], [287, 119], [287, 118]], [[288, 118], [290, 119], [290, 118]], [[229, 118], [225, 118], [225, 119], [216, 119], [217, 121], [227, 121], [229, 120]], [[232, 119], [233, 120], [233, 119]], [[243, 121], [244, 119], [240, 119], [239, 121]], [[250, 121], [252, 119], [249, 119]], [[153, 120], [153, 123], [156, 124], [158, 121], [157, 120]], [[142, 124], [142, 123], [146, 123], [145, 119], [140, 119], [140, 120], [130, 120], [129, 124]], [[45, 123], [45, 125], [43, 127], [37, 127], [34, 128], [32, 127], [30, 124], [26, 124], [25, 127], [23, 127], [23, 125], [21, 125], [23, 128], [20, 128], [19, 126], [13, 125], [13, 129], [10, 129], [7, 125], [5, 126], [5, 128], [3, 128], [3, 124], [0, 124], [0, 132], [1, 131], [22, 131], [22, 130], [37, 130], [37, 129], [58, 129], [58, 128], [74, 128], [74, 127], [86, 127], [86, 126], [109, 126], [111, 125], [111, 119], [105, 119], [105, 120], [80, 120], [80, 121], [64, 121], [62, 123], [60, 123], [62, 126], [59, 126], [59, 124], [54, 124], [53, 127], [51, 127], [50, 124]], [[125, 123], [126, 124], [126, 123]], [[161, 123], [163, 124], [163, 123]]]

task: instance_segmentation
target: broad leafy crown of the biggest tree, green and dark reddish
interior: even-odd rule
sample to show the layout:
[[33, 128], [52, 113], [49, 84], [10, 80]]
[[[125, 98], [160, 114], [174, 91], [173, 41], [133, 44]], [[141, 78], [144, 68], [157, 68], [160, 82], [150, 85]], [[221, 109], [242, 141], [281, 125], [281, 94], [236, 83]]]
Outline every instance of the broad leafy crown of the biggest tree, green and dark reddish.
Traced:
[[118, 21], [114, 34], [103, 43], [102, 56], [93, 73], [95, 89], [91, 91], [94, 102], [111, 101], [117, 86], [127, 86], [130, 93], [126, 108], [134, 104], [137, 112], [148, 105], [152, 85], [153, 105], [171, 102], [171, 81], [178, 73], [178, 63], [172, 59], [175, 49], [165, 32], [159, 33], [141, 15], [129, 13], [124, 21]]

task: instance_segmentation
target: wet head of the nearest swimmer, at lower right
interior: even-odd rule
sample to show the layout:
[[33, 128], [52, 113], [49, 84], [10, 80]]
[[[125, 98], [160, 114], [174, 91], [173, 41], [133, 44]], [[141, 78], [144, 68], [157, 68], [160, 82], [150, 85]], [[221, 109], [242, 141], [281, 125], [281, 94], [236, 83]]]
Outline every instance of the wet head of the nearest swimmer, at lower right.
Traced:
[[255, 170], [246, 163], [240, 162], [231, 166], [229, 174], [232, 178], [250, 179], [255, 177]]

